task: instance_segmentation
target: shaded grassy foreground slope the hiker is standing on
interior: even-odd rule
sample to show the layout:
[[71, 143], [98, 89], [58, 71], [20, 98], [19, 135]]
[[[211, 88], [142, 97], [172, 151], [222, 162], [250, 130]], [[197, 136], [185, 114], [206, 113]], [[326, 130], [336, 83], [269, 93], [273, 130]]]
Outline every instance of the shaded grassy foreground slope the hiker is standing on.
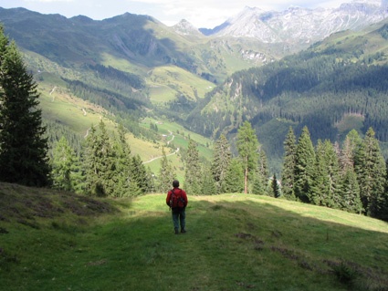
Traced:
[[[263, 196], [189, 199], [188, 233], [174, 235], [163, 194], [95, 202], [0, 183], [0, 289], [388, 287], [387, 223]], [[359, 272], [352, 286], [332, 272], [341, 262]]]

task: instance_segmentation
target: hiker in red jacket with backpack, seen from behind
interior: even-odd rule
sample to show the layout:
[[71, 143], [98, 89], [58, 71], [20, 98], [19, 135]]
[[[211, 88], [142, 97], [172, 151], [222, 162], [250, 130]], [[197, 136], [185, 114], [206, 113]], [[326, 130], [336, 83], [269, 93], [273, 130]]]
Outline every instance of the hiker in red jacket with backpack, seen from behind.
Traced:
[[186, 213], [187, 194], [179, 188], [179, 181], [173, 181], [173, 189], [167, 193], [166, 203], [170, 206], [173, 214], [173, 228], [175, 234], [179, 234], [179, 224], [181, 224], [181, 234], [186, 233]]

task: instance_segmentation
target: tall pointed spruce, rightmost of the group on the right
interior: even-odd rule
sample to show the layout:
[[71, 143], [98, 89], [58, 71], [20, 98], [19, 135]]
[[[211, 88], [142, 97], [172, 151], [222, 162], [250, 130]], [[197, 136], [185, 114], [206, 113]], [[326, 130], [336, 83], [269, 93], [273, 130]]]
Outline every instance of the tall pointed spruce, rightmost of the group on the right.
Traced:
[[360, 185], [362, 206], [367, 215], [377, 217], [384, 197], [385, 161], [378, 140], [370, 128], [355, 155], [355, 171]]

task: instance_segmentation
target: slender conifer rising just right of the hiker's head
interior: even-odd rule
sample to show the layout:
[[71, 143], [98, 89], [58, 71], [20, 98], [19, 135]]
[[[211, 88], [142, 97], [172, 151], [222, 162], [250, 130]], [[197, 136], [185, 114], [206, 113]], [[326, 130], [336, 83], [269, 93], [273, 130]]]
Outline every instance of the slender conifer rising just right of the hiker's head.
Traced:
[[201, 164], [199, 161], [199, 151], [196, 142], [189, 140], [186, 156], [184, 159], [184, 188], [192, 195], [201, 194]]

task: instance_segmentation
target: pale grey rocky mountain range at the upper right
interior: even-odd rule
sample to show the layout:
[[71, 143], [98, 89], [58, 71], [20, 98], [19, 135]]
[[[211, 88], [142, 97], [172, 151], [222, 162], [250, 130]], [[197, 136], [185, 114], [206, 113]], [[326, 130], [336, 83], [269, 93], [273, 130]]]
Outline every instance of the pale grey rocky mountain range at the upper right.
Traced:
[[388, 1], [352, 1], [338, 8], [302, 8], [264, 11], [246, 7], [214, 29], [199, 29], [206, 36], [252, 37], [264, 43], [311, 44], [342, 30], [360, 30], [388, 16]]

